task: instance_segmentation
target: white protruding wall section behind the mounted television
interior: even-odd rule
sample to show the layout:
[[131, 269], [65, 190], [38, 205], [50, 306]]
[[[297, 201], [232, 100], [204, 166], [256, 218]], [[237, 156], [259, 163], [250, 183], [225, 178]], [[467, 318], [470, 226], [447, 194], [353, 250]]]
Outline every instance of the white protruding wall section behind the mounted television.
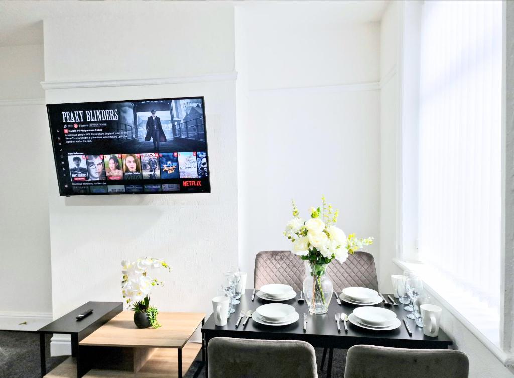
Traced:
[[[126, 22], [123, 3], [117, 3], [117, 16], [45, 20], [45, 80], [156, 75], [191, 80], [232, 73], [233, 9], [225, 4], [199, 8], [195, 3], [173, 3], [159, 3], [153, 17], [144, 16], [149, 14], [145, 4], [135, 3], [125, 16], [133, 14], [139, 23]], [[64, 198], [52, 177], [54, 317], [87, 300], [121, 301], [120, 261], [142, 255], [162, 257], [172, 269], [171, 274], [159, 275], [164, 286], [152, 293], [159, 310], [208, 312], [221, 273], [237, 261], [235, 82], [138, 84], [48, 89], [46, 101], [205, 96], [212, 193]], [[70, 232], [74, 229], [85, 241], [77, 242]]]

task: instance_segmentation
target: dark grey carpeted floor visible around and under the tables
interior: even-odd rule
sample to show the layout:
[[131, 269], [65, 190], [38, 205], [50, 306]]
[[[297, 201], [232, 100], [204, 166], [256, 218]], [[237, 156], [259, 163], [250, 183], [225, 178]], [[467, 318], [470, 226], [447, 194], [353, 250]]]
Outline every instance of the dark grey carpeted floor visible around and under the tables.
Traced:
[[[47, 336], [47, 346], [50, 343], [51, 335]], [[39, 357], [39, 335], [35, 332], [0, 331], [0, 378], [41, 378], [41, 367]], [[316, 349], [318, 367], [321, 362], [322, 349]], [[50, 348], [46, 348], [46, 369], [52, 370], [62, 363], [67, 356], [50, 357]], [[328, 357], [327, 357], [328, 358]], [[341, 377], [344, 375], [344, 364], [346, 351], [334, 351], [334, 363], [332, 376]], [[185, 378], [205, 378], [205, 369], [201, 363], [201, 355], [191, 365]], [[326, 362], [325, 362], [326, 365]], [[319, 378], [326, 377], [325, 371], [318, 369]]]

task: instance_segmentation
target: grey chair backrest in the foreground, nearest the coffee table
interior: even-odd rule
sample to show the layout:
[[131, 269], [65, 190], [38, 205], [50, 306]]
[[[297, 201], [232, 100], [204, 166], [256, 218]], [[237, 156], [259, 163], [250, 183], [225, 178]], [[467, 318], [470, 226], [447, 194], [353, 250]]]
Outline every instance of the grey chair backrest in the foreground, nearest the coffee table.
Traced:
[[207, 353], [210, 378], [318, 377], [314, 348], [305, 341], [215, 337]]

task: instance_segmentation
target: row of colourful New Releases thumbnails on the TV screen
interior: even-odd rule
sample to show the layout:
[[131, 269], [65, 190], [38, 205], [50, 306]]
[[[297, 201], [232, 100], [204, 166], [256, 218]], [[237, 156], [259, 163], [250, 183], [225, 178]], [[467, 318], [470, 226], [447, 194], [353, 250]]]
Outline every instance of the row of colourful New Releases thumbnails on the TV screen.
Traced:
[[207, 152], [68, 155], [71, 181], [207, 177]]

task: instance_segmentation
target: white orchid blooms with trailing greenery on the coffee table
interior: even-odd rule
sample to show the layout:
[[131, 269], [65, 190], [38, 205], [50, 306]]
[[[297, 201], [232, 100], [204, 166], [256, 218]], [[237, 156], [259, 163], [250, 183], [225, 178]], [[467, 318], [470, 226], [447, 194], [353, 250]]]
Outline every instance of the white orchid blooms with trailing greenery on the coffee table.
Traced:
[[[150, 292], [152, 287], [161, 285], [162, 282], [151, 278], [149, 272], [158, 267], [168, 268], [169, 265], [162, 259], [153, 257], [143, 257], [136, 261], [122, 260], [123, 280], [121, 281], [121, 290], [123, 298], [127, 303], [132, 303], [132, 310], [137, 313], [146, 313], [153, 328], [159, 328], [157, 322], [158, 311], [155, 307], [150, 307]], [[147, 325], [148, 327], [148, 325]]]

